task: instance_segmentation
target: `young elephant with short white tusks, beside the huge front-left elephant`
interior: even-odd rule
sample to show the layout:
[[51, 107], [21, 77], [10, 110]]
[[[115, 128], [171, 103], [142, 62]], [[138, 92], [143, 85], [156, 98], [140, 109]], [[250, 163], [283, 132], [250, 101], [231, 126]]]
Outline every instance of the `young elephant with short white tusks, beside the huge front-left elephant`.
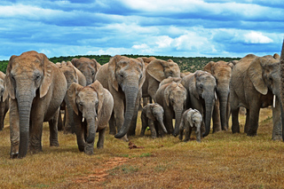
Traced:
[[99, 81], [83, 87], [72, 83], [67, 98], [73, 108], [75, 133], [80, 152], [93, 154], [96, 132], [97, 148], [104, 147], [106, 126], [114, 108], [114, 98]]

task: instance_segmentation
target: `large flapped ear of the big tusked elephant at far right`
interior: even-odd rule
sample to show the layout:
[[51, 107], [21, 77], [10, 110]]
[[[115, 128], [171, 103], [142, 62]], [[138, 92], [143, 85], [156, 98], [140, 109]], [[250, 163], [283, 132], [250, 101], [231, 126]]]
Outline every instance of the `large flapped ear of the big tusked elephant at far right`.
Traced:
[[248, 67], [248, 77], [256, 88], [256, 91], [266, 95], [268, 88], [263, 80], [263, 68], [260, 65], [260, 61], [262, 61], [261, 59], [264, 60], [264, 58], [258, 57], [250, 63]]

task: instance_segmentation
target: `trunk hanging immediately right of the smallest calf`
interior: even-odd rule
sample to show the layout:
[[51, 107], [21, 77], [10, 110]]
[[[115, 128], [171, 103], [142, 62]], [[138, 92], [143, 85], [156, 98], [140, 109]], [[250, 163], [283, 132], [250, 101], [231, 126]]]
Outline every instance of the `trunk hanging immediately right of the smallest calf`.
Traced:
[[202, 137], [206, 137], [210, 132], [210, 123], [213, 113], [213, 105], [215, 103], [215, 98], [204, 98], [205, 100], [205, 132], [202, 134]]

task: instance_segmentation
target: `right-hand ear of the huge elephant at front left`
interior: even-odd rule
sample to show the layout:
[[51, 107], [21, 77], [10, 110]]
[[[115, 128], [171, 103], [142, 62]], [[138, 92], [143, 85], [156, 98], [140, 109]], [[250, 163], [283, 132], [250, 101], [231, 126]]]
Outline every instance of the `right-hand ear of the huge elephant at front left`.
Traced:
[[53, 75], [51, 64], [53, 63], [43, 53], [40, 53], [40, 57], [43, 61], [43, 82], [39, 88], [39, 97], [43, 98], [51, 86]]

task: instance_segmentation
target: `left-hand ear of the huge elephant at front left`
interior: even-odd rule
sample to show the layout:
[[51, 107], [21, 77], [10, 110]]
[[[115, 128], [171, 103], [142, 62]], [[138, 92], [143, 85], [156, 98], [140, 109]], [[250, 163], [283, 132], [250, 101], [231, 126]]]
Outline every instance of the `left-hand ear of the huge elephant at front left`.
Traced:
[[12, 61], [15, 59], [17, 56], [12, 55], [12, 57], [9, 59], [9, 64], [6, 69], [6, 76], [4, 78], [4, 94], [3, 94], [3, 101], [5, 101], [9, 96], [10, 98], [14, 99], [15, 98], [15, 86], [12, 84], [12, 79], [11, 79], [11, 70], [12, 70]]

